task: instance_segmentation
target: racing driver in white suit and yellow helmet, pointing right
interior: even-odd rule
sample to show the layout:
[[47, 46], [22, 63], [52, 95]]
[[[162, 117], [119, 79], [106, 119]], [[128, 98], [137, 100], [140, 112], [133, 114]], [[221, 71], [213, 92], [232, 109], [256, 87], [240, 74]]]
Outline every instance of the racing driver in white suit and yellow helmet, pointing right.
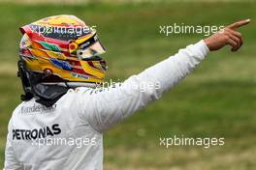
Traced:
[[[5, 169], [102, 170], [104, 132], [174, 88], [209, 51], [227, 44], [238, 51], [237, 29], [249, 22], [231, 24], [109, 87], [99, 87], [106, 50], [80, 18], [54, 15], [21, 27], [17, 74], [24, 93], [9, 122]], [[82, 145], [71, 145], [77, 139]]]

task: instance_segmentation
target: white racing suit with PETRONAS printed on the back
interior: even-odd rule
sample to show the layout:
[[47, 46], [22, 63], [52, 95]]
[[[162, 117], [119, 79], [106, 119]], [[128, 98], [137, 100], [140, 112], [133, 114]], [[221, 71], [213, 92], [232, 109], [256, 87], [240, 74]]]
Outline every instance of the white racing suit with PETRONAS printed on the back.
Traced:
[[5, 169], [102, 170], [103, 132], [159, 99], [207, 54], [197, 42], [121, 85], [71, 89], [49, 108], [23, 101], [9, 123]]

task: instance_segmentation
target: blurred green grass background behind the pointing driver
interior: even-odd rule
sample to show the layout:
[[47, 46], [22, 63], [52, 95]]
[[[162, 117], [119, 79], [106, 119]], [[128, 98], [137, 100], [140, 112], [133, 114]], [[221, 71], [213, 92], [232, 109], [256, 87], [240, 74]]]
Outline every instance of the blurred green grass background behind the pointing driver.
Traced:
[[[54, 14], [96, 25], [108, 49], [108, 78], [123, 80], [203, 35], [159, 33], [160, 25], [226, 25], [243, 18], [239, 52], [212, 52], [179, 86], [105, 135], [107, 170], [256, 169], [256, 2], [0, 2], [0, 168], [8, 121], [22, 92], [16, 78], [18, 27]], [[159, 137], [225, 137], [222, 147], [159, 146]]]

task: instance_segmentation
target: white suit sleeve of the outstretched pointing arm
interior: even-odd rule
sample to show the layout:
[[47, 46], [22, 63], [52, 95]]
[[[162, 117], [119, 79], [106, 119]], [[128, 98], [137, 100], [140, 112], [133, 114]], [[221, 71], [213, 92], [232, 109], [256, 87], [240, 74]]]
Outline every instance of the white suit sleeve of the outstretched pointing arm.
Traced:
[[132, 75], [109, 88], [79, 93], [80, 117], [98, 132], [104, 132], [133, 115], [149, 102], [176, 86], [208, 54], [204, 41], [180, 49], [176, 55]]

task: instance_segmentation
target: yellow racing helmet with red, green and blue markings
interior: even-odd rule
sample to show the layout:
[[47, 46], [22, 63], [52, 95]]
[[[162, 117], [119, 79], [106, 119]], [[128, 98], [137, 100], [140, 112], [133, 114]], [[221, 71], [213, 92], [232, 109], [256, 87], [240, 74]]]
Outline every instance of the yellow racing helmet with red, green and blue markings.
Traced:
[[40, 82], [102, 83], [105, 48], [96, 30], [74, 15], [54, 15], [20, 28], [19, 56]]

